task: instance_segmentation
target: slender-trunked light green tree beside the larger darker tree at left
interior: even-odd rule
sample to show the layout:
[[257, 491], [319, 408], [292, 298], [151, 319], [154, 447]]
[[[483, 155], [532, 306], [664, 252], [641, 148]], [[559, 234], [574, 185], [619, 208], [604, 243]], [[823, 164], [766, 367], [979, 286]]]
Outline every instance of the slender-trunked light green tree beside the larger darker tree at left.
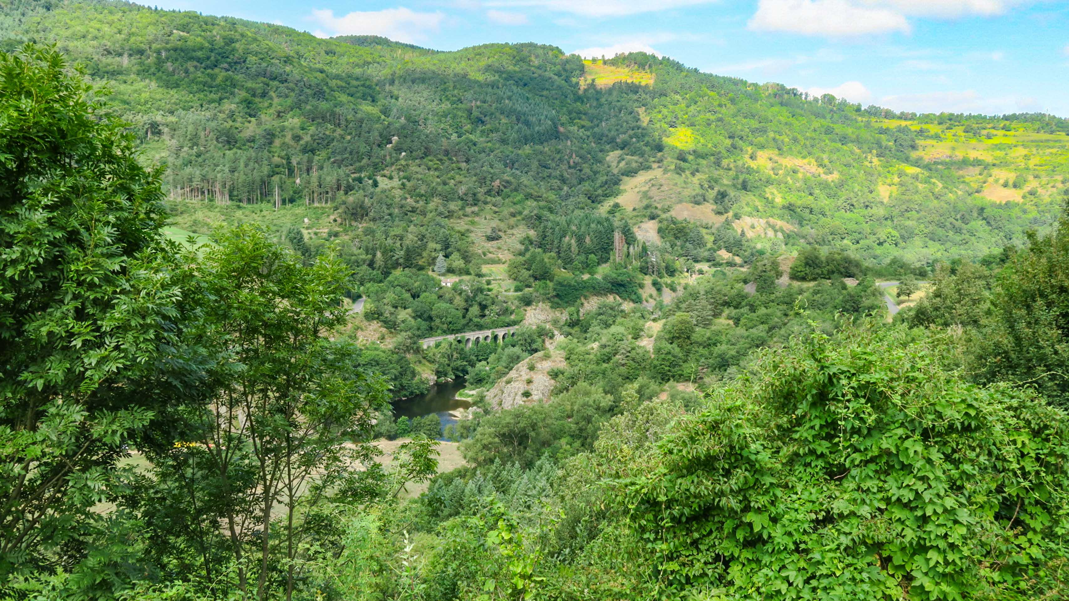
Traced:
[[[186, 260], [196, 263], [196, 251]], [[355, 368], [355, 345], [330, 337], [345, 322], [339, 299], [348, 286], [335, 253], [305, 267], [263, 231], [238, 226], [203, 251], [192, 278], [187, 287], [205, 299], [202, 344], [218, 361], [205, 402], [188, 416], [198, 444], [185, 453], [206, 469], [188, 494], [218, 499], [205, 510], [218, 512], [242, 595], [267, 599], [281, 580], [289, 599], [310, 536], [306, 517], [371, 461], [362, 443], [386, 405], [386, 383]], [[154, 458], [158, 481], [190, 469], [176, 454]], [[218, 531], [204, 528], [212, 540], [200, 545], [217, 544]], [[224, 568], [206, 559], [205, 579]]]

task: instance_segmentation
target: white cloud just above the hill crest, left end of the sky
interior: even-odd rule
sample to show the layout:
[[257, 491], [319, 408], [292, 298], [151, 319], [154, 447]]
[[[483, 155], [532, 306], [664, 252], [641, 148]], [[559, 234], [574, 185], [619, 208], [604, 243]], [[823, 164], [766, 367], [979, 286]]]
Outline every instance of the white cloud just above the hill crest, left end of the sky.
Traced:
[[420, 42], [427, 34], [438, 31], [446, 15], [440, 12], [417, 13], [409, 9], [385, 9], [383, 11], [355, 11], [344, 16], [335, 16], [334, 11], [314, 10], [312, 20], [322, 28], [315, 35], [382, 35], [396, 42]]

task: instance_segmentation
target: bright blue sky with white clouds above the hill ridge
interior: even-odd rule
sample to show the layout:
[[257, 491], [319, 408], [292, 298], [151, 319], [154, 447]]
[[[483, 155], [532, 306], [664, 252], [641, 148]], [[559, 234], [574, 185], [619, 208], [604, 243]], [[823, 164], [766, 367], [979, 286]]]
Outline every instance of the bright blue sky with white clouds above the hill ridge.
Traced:
[[[154, 2], [156, 3], [156, 2]], [[164, 0], [160, 7], [453, 50], [646, 50], [897, 110], [1069, 117], [1069, 0]]]

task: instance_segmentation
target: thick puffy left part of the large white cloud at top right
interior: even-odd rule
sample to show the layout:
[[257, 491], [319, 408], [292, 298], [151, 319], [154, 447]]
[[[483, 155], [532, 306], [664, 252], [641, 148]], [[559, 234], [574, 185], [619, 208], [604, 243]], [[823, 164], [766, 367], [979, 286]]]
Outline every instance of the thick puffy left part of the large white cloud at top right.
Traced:
[[760, 0], [749, 28], [832, 37], [910, 32], [900, 13], [848, 0]]

